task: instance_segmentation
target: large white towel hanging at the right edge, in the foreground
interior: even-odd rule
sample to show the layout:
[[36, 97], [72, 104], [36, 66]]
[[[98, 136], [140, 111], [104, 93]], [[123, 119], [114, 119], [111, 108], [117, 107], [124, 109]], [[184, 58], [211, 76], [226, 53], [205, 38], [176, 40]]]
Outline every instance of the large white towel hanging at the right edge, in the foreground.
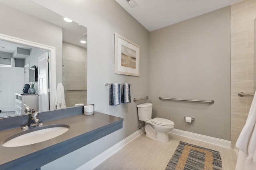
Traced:
[[[239, 154], [237, 160], [236, 170], [256, 170], [256, 94], [252, 100], [250, 111], [242, 129], [236, 147], [238, 147]], [[242, 152], [241, 152], [242, 151]], [[246, 168], [248, 167], [248, 168]], [[254, 168], [252, 168], [254, 167]]]

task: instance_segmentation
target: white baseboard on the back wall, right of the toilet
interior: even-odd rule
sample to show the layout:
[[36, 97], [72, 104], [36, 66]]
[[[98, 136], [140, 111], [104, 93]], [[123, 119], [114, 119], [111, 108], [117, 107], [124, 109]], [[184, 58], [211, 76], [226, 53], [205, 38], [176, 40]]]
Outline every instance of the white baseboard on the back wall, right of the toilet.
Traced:
[[227, 141], [227, 140], [224, 140], [224, 139], [209, 137], [209, 136], [206, 136], [206, 135], [200, 135], [200, 134], [197, 134], [197, 133], [182, 131], [182, 130], [179, 130], [179, 129], [172, 129], [172, 131], [169, 132], [169, 133], [184, 136], [184, 137], [188, 137], [188, 138], [192, 138], [192, 139], [196, 139], [198, 141], [212, 143], [214, 145], [219, 145], [219, 146], [222, 146], [222, 147], [231, 148], [231, 141]]

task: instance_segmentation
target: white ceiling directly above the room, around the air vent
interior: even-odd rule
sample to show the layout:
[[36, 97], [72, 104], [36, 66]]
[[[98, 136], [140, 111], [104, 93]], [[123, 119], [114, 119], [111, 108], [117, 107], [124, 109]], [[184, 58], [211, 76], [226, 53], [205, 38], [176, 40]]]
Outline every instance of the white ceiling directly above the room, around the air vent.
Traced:
[[135, 0], [131, 8], [126, 0], [116, 0], [148, 31], [188, 20], [242, 0]]

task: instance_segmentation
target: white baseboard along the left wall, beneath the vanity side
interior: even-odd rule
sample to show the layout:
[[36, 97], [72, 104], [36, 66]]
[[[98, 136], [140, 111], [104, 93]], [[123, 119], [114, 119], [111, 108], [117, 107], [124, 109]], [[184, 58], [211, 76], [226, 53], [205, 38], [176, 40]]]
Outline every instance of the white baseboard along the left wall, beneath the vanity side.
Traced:
[[96, 168], [97, 166], [99, 166], [102, 162], [104, 162], [105, 160], [107, 160], [110, 156], [112, 156], [113, 154], [115, 154], [116, 152], [118, 152], [120, 149], [122, 149], [125, 145], [127, 145], [130, 141], [134, 140], [136, 137], [138, 137], [141, 133], [144, 133], [145, 129], [144, 127], [141, 130], [138, 130], [134, 133], [132, 133], [132, 135], [126, 137], [125, 139], [123, 139], [122, 141], [120, 141], [119, 143], [117, 143], [116, 145], [114, 145], [113, 147], [105, 150], [104, 152], [102, 152], [101, 154], [99, 154], [98, 156], [96, 156], [95, 158], [92, 158], [91, 160], [89, 160], [88, 162], [86, 162], [85, 164], [83, 164], [82, 166], [76, 168], [76, 170], [92, 170], [94, 168]]

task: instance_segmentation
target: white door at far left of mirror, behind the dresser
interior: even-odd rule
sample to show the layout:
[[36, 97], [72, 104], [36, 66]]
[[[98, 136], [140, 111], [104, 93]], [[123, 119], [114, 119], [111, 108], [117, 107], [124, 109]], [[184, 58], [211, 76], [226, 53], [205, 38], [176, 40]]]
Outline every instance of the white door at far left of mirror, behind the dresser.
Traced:
[[0, 67], [0, 110], [15, 111], [14, 92], [22, 92], [24, 68]]

